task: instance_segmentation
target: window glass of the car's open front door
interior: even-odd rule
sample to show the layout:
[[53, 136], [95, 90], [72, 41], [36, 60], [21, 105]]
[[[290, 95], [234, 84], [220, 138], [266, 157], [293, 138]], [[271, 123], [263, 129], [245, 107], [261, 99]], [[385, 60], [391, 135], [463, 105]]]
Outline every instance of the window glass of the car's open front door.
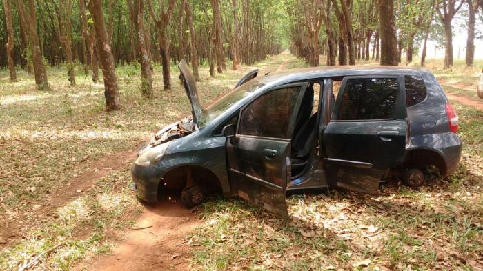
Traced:
[[290, 117], [299, 87], [270, 91], [250, 103], [242, 112], [238, 134], [288, 139]]

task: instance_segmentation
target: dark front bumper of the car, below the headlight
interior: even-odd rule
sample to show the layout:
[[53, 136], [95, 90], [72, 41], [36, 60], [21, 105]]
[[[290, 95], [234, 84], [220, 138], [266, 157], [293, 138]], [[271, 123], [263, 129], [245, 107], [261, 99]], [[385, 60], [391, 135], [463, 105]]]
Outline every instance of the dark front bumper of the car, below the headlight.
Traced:
[[147, 203], [157, 202], [157, 190], [163, 172], [153, 165], [137, 165], [131, 168], [132, 181], [137, 197]]

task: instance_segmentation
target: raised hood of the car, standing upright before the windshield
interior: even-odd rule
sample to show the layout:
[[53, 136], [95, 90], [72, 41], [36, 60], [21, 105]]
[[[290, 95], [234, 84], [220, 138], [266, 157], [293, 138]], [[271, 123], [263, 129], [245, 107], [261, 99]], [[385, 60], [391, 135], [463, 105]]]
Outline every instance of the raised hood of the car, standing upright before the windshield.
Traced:
[[190, 99], [191, 114], [193, 114], [193, 121], [195, 121], [196, 126], [199, 127], [199, 121], [201, 120], [201, 114], [204, 108], [201, 106], [201, 103], [199, 102], [199, 94], [198, 94], [198, 88], [196, 86], [195, 77], [193, 77], [193, 72], [191, 72], [191, 69], [188, 67], [188, 64], [186, 63], [186, 61], [184, 61], [184, 59], [179, 62], [178, 67], [179, 67], [179, 70], [181, 71], [181, 74], [179, 74], [179, 77], [180, 79], [183, 80], [184, 90], [188, 95], [188, 99]]

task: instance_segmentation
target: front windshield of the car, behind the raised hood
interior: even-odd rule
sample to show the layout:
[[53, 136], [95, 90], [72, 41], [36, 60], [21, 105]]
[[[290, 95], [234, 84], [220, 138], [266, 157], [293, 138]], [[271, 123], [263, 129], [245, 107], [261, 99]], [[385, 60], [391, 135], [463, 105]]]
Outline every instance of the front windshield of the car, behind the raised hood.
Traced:
[[217, 101], [208, 106], [206, 110], [203, 110], [201, 119], [199, 120], [199, 128], [206, 126], [206, 124], [210, 123], [210, 121], [213, 121], [213, 119], [216, 119], [220, 114], [223, 114], [223, 112], [237, 103], [237, 101], [264, 86], [264, 84], [265, 83], [262, 83], [257, 79], [252, 79], [244, 83], [242, 86], [231, 90], [220, 99], [217, 99]]

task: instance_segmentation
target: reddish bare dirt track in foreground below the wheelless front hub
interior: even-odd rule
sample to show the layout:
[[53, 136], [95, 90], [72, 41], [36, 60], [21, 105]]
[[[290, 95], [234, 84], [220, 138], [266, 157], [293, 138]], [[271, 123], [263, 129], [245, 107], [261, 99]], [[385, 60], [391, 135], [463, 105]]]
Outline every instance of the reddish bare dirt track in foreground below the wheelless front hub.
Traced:
[[[277, 70], [284, 69], [287, 61], [284, 59]], [[117, 244], [112, 254], [83, 261], [78, 270], [189, 270], [190, 248], [185, 237], [203, 221], [174, 195], [164, 197], [161, 203], [146, 206], [137, 219], [135, 229], [139, 230], [128, 230], [126, 239]]]

